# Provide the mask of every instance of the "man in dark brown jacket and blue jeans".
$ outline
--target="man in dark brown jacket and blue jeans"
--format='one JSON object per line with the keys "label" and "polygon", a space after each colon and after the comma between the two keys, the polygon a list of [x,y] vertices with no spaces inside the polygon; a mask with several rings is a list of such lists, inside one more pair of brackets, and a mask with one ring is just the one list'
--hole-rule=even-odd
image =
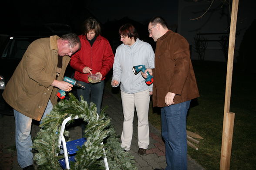
{"label": "man in dark brown jacket and blue jeans", "polygon": [[[161,107],[162,137],[165,140],[165,170],[187,169],[186,116],[190,101],[199,97],[187,40],[167,28],[161,17],[148,24],[156,42],[153,105]],[[141,73],[144,78],[146,75]],[[159,170],[159,169],[155,169]]]}

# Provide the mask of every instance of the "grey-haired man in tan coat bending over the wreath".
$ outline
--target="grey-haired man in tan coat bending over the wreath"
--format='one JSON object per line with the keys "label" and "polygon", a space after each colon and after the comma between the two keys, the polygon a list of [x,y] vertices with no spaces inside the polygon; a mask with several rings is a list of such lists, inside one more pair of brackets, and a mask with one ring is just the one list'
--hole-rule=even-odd
{"label": "grey-haired man in tan coat bending over the wreath", "polygon": [[40,121],[57,103],[57,90],[70,91],[73,85],[64,82],[70,56],[81,47],[78,36],[68,33],[61,37],[37,39],[28,46],[3,92],[13,108],[18,163],[23,170],[34,170],[32,119]]}

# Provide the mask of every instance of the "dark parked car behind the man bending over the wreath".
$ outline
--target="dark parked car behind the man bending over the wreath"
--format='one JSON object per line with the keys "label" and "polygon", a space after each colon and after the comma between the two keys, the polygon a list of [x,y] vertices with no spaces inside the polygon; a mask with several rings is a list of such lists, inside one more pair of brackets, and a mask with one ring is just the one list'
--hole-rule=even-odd
{"label": "dark parked car behind the man bending over the wreath", "polygon": [[[46,26],[50,28],[51,24]],[[61,28],[59,24],[54,24],[54,26]],[[0,36],[0,114],[13,114],[13,109],[4,101],[2,93],[30,43],[39,38],[49,37],[51,35],[61,36],[65,33],[70,33],[70,27],[67,28],[68,29],[60,29],[60,31],[56,28],[51,29],[48,32],[44,31],[44,34],[36,33],[37,36],[31,36],[33,33],[27,36],[27,32],[25,35],[23,35],[23,33],[14,33],[14,36],[5,35],[4,40]],[[71,76],[73,72],[73,69],[68,66],[67,75]]]}

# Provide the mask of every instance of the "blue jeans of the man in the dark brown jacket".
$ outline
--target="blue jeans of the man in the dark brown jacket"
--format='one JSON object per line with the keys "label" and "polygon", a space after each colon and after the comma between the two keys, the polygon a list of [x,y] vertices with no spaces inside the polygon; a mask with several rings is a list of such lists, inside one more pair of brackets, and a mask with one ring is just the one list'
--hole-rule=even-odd
{"label": "blue jeans of the man in the dark brown jacket", "polygon": [[162,137],[165,140],[165,170],[187,170],[186,118],[190,100],[161,108]]}

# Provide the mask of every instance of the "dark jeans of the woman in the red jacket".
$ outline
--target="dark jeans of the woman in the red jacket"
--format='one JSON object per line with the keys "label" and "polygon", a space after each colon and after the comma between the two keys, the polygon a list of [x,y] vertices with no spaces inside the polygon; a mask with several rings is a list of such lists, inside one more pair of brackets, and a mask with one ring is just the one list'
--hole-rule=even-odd
{"label": "dark jeans of the woman in the red jacket", "polygon": [[[97,113],[100,114],[101,112],[101,101],[102,95],[104,90],[104,80],[98,83],[86,83],[86,82],[79,82],[85,88],[77,88],[77,96],[79,100],[81,100],[81,96],[83,96],[84,100],[87,101],[88,105],[90,106],[90,102],[94,102],[97,107]],[[90,98],[91,94],[91,98]]]}

